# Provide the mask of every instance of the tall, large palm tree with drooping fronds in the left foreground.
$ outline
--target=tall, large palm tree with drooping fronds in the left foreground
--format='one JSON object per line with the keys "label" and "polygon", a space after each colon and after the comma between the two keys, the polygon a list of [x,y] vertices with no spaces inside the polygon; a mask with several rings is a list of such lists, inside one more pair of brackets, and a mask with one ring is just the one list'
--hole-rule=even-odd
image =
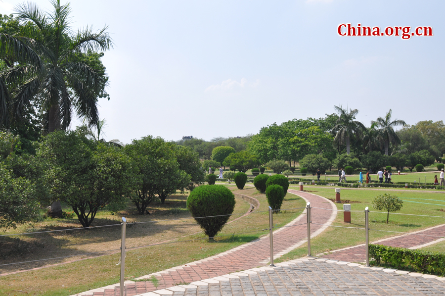
{"label": "tall, large palm tree with drooping fronds in the left foreground", "polygon": [[45,13],[30,2],[15,7],[20,32],[0,34],[0,56],[16,62],[0,73],[0,124],[23,118],[36,101],[49,132],[70,126],[73,108],[89,125],[99,119],[97,100],[107,97],[108,84],[100,51],[112,48],[106,27],[70,29],[69,3],[51,0]]}

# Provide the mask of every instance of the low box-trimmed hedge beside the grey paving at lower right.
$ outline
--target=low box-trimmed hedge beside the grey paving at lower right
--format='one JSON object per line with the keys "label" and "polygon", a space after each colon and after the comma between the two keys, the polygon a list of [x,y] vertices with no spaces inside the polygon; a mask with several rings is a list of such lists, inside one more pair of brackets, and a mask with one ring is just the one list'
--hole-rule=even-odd
{"label": "low box-trimmed hedge beside the grey paving at lower right", "polygon": [[369,256],[379,266],[445,276],[445,253],[369,245]]}

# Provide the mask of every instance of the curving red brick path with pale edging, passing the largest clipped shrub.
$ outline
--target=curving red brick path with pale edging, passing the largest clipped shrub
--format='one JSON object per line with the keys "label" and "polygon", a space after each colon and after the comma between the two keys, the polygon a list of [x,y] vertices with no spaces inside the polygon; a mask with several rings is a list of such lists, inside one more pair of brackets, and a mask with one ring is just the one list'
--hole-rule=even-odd
{"label": "curving red brick path with pale edging, passing the largest clipped shrub", "polygon": [[[319,224],[328,225],[332,223],[337,214],[336,206],[324,197],[319,197],[310,193],[297,190],[289,190],[288,193],[296,194],[311,202],[311,206],[320,208],[330,208],[333,211],[326,214],[326,211],[312,210],[312,221]],[[287,224],[295,227],[281,228],[273,232],[274,258],[279,257],[290,250],[299,247],[307,242],[306,212],[297,219]],[[311,237],[321,233],[327,226],[312,225]],[[149,279],[152,276],[158,280],[158,287],[154,287],[152,281],[126,282],[126,295],[133,296],[143,294],[158,289],[172,287],[178,283],[191,283],[233,273],[237,270],[246,270],[257,266],[265,265],[270,260],[269,238],[265,236],[251,243],[233,248],[204,260],[192,262],[183,266],[178,266],[158,273],[141,277]],[[77,294],[79,295],[79,294]],[[94,296],[118,296],[119,284],[90,290],[80,295]]]}

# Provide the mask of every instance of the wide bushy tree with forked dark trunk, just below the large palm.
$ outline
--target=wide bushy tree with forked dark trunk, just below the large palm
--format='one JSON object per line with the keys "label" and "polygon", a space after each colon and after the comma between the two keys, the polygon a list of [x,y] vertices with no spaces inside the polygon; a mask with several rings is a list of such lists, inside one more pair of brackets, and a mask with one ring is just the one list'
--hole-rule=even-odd
{"label": "wide bushy tree with forked dark trunk, just below the large palm", "polygon": [[107,204],[125,203],[133,179],[122,149],[89,140],[78,132],[54,132],[37,149],[45,161],[45,185],[52,200],[72,207],[83,227]]}

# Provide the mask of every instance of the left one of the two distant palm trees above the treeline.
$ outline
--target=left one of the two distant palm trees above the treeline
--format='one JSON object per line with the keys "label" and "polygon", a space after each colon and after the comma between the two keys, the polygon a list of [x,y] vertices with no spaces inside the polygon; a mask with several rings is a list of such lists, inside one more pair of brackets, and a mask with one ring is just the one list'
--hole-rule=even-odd
{"label": "left one of the two distant palm trees above the treeline", "polygon": [[336,125],[332,129],[335,133],[334,141],[337,141],[340,145],[346,143],[346,153],[349,154],[351,152],[351,136],[361,135],[362,131],[366,128],[361,122],[354,120],[358,113],[357,109],[349,109],[349,113],[347,108],[342,108],[342,105],[339,107],[334,106],[334,109],[339,114]]}

